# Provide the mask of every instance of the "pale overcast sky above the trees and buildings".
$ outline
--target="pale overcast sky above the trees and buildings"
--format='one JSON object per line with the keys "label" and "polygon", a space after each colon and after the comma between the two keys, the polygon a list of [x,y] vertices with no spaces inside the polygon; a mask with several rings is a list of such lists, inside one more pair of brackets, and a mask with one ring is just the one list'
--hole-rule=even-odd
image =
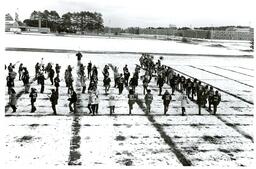
{"label": "pale overcast sky above the trees and buildings", "polygon": [[91,11],[103,15],[112,27],[220,26],[254,24],[254,0],[6,0],[5,13],[20,20],[33,10]]}

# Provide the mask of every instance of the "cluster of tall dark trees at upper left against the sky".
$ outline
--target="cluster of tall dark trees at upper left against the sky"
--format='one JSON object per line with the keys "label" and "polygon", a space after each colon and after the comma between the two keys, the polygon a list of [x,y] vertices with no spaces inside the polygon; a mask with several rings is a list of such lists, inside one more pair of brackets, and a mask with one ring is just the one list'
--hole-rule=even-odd
{"label": "cluster of tall dark trees at upper left against the sky", "polygon": [[52,32],[84,33],[104,30],[102,15],[97,12],[67,12],[60,17],[56,11],[33,11],[30,19],[25,19],[23,23],[27,26],[38,27],[39,20],[41,20],[42,27],[48,27]]}

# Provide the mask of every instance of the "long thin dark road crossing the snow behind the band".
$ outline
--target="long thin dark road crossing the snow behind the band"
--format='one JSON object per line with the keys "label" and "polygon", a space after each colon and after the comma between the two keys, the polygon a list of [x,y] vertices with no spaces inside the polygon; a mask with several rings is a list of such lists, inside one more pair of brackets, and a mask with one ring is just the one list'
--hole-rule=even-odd
{"label": "long thin dark road crossing the snow behind the band", "polygon": [[[6,51],[18,51],[18,52],[51,52],[51,53],[75,53],[77,50],[69,49],[46,49],[46,48],[17,48],[6,47]],[[219,54],[189,54],[189,53],[161,53],[161,52],[128,52],[128,51],[101,51],[101,50],[79,50],[82,53],[92,54],[142,54],[148,53],[152,55],[165,55],[165,56],[208,56],[208,57],[241,57],[241,58],[253,58],[253,55],[219,55]]]}

